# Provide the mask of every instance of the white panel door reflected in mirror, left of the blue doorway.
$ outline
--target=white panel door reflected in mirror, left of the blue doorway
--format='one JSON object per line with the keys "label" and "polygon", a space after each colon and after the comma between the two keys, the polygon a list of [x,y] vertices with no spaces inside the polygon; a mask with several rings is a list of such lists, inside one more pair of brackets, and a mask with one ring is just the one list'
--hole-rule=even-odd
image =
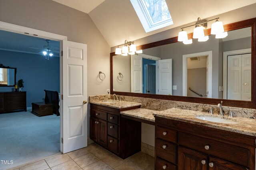
{"label": "white panel door reflected in mirror, left of the blue doorway", "polygon": [[142,57],[131,55],[131,91],[142,93]]}

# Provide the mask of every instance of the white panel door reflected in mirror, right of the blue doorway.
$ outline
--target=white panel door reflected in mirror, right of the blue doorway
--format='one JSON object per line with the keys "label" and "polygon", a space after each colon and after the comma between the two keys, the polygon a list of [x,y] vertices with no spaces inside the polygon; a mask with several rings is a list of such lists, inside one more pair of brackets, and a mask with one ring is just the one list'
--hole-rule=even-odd
{"label": "white panel door reflected in mirror, right of the blue doorway", "polygon": [[172,95],[172,59],[158,60],[158,94]]}

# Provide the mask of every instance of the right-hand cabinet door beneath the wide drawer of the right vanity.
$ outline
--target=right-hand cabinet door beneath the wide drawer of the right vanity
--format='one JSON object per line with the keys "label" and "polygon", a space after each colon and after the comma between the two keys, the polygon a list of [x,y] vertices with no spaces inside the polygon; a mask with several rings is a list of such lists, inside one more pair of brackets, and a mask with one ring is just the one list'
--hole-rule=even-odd
{"label": "right-hand cabinet door beneath the wide drawer of the right vanity", "polygon": [[[213,167],[210,167],[213,166]],[[226,162],[224,160],[210,157],[209,159],[209,170],[248,170],[245,167]]]}

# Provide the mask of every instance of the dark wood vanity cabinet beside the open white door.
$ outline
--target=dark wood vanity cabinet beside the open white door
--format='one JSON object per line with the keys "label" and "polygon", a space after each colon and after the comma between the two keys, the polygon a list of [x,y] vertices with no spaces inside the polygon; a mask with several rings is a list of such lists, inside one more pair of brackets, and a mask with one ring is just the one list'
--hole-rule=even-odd
{"label": "dark wood vanity cabinet beside the open white door", "polygon": [[90,139],[122,159],[140,151],[141,122],[125,119],[120,111],[140,106],[116,109],[90,104]]}

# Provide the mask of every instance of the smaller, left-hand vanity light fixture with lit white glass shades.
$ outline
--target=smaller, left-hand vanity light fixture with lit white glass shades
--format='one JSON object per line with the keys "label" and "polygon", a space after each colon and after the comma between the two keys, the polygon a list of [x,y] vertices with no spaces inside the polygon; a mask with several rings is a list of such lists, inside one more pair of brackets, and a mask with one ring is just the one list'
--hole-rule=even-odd
{"label": "smaller, left-hand vanity light fixture with lit white glass shades", "polygon": [[[123,46],[124,45],[124,46]],[[120,48],[120,46],[122,47],[122,50]],[[127,56],[128,54],[130,55],[134,55],[136,53],[142,53],[142,50],[138,50],[136,49],[136,45],[134,44],[134,41],[124,41],[124,44],[118,45],[116,48],[116,55],[123,55],[123,56]]]}

